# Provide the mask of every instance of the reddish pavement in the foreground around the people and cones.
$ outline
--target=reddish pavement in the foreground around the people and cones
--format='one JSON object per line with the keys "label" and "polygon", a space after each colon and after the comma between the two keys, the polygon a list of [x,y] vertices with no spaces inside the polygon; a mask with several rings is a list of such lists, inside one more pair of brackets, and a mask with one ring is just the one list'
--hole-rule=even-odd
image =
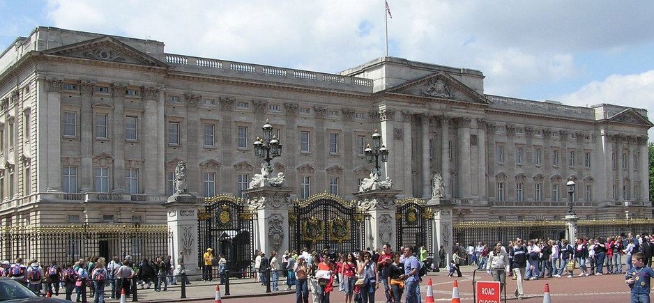
{"label": "reddish pavement in the foreground around the people and cones", "polygon": [[[448,278],[447,272],[429,272],[423,277],[423,283],[420,283],[420,290],[423,293],[423,302],[426,297],[427,283],[432,282],[434,301],[450,302],[452,299],[453,282],[457,280],[459,286],[459,295],[461,302],[473,302],[473,278],[475,281],[492,281],[485,271],[475,271],[475,267],[462,266],[463,277]],[[579,270],[577,270],[577,274]],[[282,278],[283,279],[283,278]],[[549,287],[552,302],[629,302],[629,288],[625,286],[623,274],[604,274],[602,276],[573,277],[572,279],[563,277],[539,279],[537,281],[524,281],[525,298],[522,302],[542,302],[545,284]],[[150,289],[137,290],[138,302],[210,302],[215,299],[216,283],[213,282],[192,281],[191,285],[186,288],[186,298],[181,298],[181,286],[169,286],[165,292],[155,292],[153,287]],[[281,291],[266,293],[266,286],[254,282],[254,279],[230,279],[229,295],[226,295],[225,286],[220,285],[220,295],[222,302],[230,302],[230,299],[236,298],[254,298],[254,297],[271,297],[270,302],[294,302],[295,290],[284,290],[287,286],[285,281],[280,281]],[[108,287],[107,287],[108,288]],[[107,289],[105,288],[105,289]],[[293,287],[295,289],[295,287]],[[513,291],[516,289],[516,283],[510,277],[507,277],[506,298],[510,301],[516,301]],[[63,299],[60,294],[59,298]],[[292,298],[292,299],[291,299]],[[252,299],[255,300],[255,299]],[[377,290],[377,302],[383,302],[381,288]],[[119,302],[119,299],[109,299],[105,297],[106,302]],[[249,302],[250,300],[235,300]],[[332,295],[331,302],[342,302],[341,295],[336,291]],[[93,302],[93,298],[89,298]],[[132,297],[127,298],[127,302],[132,302]],[[521,302],[521,303],[522,303]]]}

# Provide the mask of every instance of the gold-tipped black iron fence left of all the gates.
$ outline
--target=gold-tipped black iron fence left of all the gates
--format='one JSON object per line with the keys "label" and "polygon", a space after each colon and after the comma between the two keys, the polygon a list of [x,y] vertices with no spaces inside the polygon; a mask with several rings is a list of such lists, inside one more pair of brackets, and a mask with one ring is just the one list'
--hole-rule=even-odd
{"label": "gold-tipped black iron fence left of all the gates", "polygon": [[41,263],[71,263],[80,258],[112,256],[142,258],[166,256],[172,233],[165,224],[0,227],[0,258]]}

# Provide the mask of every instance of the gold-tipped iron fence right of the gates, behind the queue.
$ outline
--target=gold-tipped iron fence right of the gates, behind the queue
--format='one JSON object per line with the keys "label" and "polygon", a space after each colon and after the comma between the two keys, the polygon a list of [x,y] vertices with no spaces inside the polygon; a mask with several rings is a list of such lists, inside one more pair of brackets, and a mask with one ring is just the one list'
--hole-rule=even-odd
{"label": "gold-tipped iron fence right of the gates, behind the queue", "polygon": [[[453,224],[454,240],[460,244],[508,242],[516,237],[524,239],[565,238],[565,220],[459,222]],[[654,233],[654,219],[579,220],[577,235],[608,237],[634,233]]]}

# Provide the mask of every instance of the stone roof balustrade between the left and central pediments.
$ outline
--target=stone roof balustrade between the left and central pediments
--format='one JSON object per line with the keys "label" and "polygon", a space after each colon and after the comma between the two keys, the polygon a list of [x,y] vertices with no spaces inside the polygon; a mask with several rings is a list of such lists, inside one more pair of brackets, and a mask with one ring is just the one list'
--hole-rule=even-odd
{"label": "stone roof balustrade between the left and central pediments", "polygon": [[243,72],[245,75],[261,75],[266,77],[277,77],[278,79],[302,79],[324,83],[326,85],[349,84],[351,86],[363,86],[372,90],[372,79],[360,77],[345,77],[322,72],[310,72],[307,70],[294,70],[290,68],[277,68],[267,65],[241,63],[225,60],[197,58],[178,54],[166,54],[166,63],[179,65],[181,67],[200,67],[207,70],[220,70],[224,72]]}

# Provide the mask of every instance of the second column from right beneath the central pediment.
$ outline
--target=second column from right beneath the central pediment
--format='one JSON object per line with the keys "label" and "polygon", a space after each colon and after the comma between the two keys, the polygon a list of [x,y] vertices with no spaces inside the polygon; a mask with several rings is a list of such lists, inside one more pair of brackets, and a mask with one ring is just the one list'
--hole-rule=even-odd
{"label": "second column from right beneath the central pediment", "polygon": [[457,119],[457,183],[459,188],[459,196],[462,198],[470,198],[470,118]]}

